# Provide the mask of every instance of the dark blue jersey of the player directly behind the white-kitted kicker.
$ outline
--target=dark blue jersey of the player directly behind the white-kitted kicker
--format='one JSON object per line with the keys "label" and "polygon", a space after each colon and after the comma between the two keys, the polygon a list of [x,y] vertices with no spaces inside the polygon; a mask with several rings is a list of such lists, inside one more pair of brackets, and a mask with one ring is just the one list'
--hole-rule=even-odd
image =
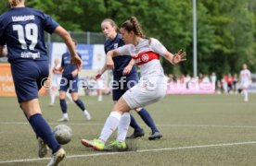
{"label": "dark blue jersey of the player directly behind the white-kitted kicker", "polygon": [[[108,53],[110,50],[114,50],[118,47],[121,47],[125,43],[122,41],[122,35],[120,33],[117,33],[117,36],[113,41],[110,41],[109,39],[105,41],[104,48],[105,48],[105,53]],[[122,55],[122,56],[116,56],[113,57],[114,61],[114,70],[113,73],[114,75],[122,75],[122,70],[126,65],[128,65],[131,61],[132,57],[130,55]],[[130,73],[136,73],[135,66],[133,66],[132,70]]]}

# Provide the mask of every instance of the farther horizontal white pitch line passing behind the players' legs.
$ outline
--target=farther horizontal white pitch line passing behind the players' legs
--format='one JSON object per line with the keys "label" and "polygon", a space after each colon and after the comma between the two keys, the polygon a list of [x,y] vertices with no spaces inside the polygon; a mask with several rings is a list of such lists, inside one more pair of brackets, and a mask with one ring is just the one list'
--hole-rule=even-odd
{"label": "farther horizontal white pitch line passing behind the players' legs", "polygon": [[[48,123],[49,125],[58,125],[59,123]],[[29,125],[25,122],[0,122],[0,125]],[[92,123],[67,123],[66,125],[104,125]],[[171,126],[171,127],[219,127],[219,128],[256,128],[256,125],[179,125],[179,124],[157,124],[158,126]]]}

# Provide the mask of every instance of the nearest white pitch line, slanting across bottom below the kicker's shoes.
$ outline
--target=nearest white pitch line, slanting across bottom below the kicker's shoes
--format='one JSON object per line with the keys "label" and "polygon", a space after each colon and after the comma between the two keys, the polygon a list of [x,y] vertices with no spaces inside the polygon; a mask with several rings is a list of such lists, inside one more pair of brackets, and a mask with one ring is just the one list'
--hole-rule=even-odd
{"label": "nearest white pitch line, slanting across bottom below the kicker's shoes", "polygon": [[[101,153],[85,154],[85,155],[70,155],[70,156],[67,156],[67,158],[68,159],[70,159],[70,158],[88,158],[88,157],[120,155],[120,154],[127,154],[127,153],[136,153],[136,152],[137,153],[145,153],[145,152],[153,152],[153,151],[167,151],[167,150],[179,150],[179,149],[191,149],[191,148],[231,147],[231,146],[250,145],[250,144],[256,144],[256,141],[187,146],[187,147],[176,147],[176,148],[151,148],[151,149],[141,149],[141,150],[136,150],[136,151],[125,151],[125,152],[101,152]],[[37,160],[50,160],[50,158],[25,159],[25,160],[0,160],[0,164],[15,163],[15,162],[31,162],[31,161],[37,161]]]}

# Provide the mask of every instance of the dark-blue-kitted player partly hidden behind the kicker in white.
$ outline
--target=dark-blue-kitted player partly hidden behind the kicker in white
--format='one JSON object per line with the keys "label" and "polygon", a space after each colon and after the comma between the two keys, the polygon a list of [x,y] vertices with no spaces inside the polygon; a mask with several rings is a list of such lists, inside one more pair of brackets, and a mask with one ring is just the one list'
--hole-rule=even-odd
{"label": "dark-blue-kitted player partly hidden behind the kicker in white", "polygon": [[[101,23],[101,29],[104,35],[108,38],[105,41],[105,53],[114,50],[124,45],[122,41],[122,35],[118,32],[118,26],[112,19],[104,19]],[[138,83],[138,73],[136,71],[134,60],[129,55],[122,55],[113,57],[114,69],[113,69],[113,101],[118,101],[124,92]],[[106,71],[106,65],[102,68],[97,77],[101,76]],[[145,108],[135,109],[136,113],[140,115],[143,121],[151,128],[152,134],[148,137],[149,140],[158,139],[161,137],[160,131],[154,123],[151,115]],[[138,136],[144,136],[144,130],[136,123],[134,116],[131,114],[130,126],[134,128],[134,133],[127,138],[135,138]]]}

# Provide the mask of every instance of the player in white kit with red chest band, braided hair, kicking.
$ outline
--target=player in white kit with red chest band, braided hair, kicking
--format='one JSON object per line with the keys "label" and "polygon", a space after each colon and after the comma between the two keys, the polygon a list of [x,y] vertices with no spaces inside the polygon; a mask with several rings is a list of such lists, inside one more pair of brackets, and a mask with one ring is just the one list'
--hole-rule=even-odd
{"label": "player in white kit with red chest band, braided hair, kicking", "polygon": [[[87,148],[94,148],[95,150],[127,149],[125,136],[130,124],[130,110],[160,101],[166,94],[167,83],[160,65],[160,56],[163,56],[173,65],[186,60],[186,53],[182,51],[175,54],[170,53],[160,41],[145,38],[135,17],[122,23],[121,33],[122,40],[126,45],[109,51],[106,65],[109,69],[113,68],[113,56],[131,55],[136,65],[140,65],[141,79],[115,103],[100,136],[94,140],[81,140],[83,146]],[[118,125],[118,140],[112,141],[105,147],[109,136],[117,129]]]}

